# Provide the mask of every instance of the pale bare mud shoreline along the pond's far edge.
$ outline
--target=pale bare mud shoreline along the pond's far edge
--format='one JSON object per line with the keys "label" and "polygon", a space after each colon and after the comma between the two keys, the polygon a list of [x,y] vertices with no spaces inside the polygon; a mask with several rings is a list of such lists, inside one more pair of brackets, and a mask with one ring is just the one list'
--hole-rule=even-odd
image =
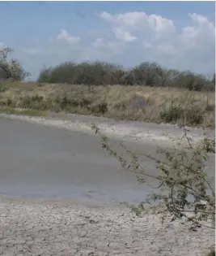
{"label": "pale bare mud shoreline along the pond's far edge", "polygon": [[[95,117],[87,115],[75,114],[54,114],[51,113],[48,117],[33,117],[28,115],[7,115],[0,114],[0,118],[18,119],[27,121],[33,124],[42,124],[55,128],[64,128],[76,132],[87,132],[94,135],[91,130],[91,124],[95,124],[104,135],[115,137],[116,139],[126,139],[143,143],[144,141],[156,143],[158,145],[187,145],[183,129],[174,124],[152,124],[138,121],[116,121],[104,117]],[[214,137],[214,129],[188,128],[188,136],[192,138],[192,143],[196,144],[205,137]]]}

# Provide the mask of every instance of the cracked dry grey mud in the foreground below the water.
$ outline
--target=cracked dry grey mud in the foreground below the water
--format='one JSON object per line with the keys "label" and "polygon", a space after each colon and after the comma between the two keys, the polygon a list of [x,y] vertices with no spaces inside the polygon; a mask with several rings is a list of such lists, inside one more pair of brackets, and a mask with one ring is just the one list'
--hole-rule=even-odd
{"label": "cracked dry grey mud in the foreground below the water", "polygon": [[213,229],[116,206],[2,199],[0,210],[0,255],[203,256],[214,244]]}

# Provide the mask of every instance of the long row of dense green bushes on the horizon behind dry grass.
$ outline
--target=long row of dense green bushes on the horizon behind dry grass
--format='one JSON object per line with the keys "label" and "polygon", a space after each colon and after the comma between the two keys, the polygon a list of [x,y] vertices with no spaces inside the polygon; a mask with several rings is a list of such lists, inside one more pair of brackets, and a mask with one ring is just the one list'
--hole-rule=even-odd
{"label": "long row of dense green bushes on the horizon behind dry grass", "polygon": [[176,87],[189,90],[214,90],[214,77],[178,72],[161,67],[157,63],[141,63],[132,69],[110,63],[61,63],[57,67],[44,68],[40,83],[67,83],[70,85],[142,85],[150,87]]}

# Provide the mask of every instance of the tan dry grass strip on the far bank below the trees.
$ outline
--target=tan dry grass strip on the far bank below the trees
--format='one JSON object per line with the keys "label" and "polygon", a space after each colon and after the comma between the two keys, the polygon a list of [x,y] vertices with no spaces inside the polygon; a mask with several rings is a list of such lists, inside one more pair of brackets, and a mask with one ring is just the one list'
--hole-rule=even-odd
{"label": "tan dry grass strip on the far bank below the trees", "polygon": [[[214,93],[193,92],[186,89],[152,88],[143,86],[87,86],[87,85],[50,85],[36,83],[6,83],[0,92],[0,103],[8,102],[10,107],[23,107],[23,99],[28,96],[42,96],[42,102],[30,108],[45,111],[65,111],[83,115],[104,115],[116,119],[132,119],[146,122],[163,122],[163,104],[176,99],[179,106],[188,104],[195,112],[207,111],[198,126],[214,127]],[[53,100],[70,99],[66,107],[57,107]],[[86,105],[79,103],[83,101]],[[74,103],[75,101],[75,103]],[[6,103],[7,105],[7,103]],[[62,105],[62,104],[61,104]],[[8,105],[7,105],[8,106]],[[28,106],[29,108],[29,106]],[[169,121],[169,122],[172,122]],[[173,120],[178,122],[178,120]],[[196,123],[196,122],[195,122]]]}

